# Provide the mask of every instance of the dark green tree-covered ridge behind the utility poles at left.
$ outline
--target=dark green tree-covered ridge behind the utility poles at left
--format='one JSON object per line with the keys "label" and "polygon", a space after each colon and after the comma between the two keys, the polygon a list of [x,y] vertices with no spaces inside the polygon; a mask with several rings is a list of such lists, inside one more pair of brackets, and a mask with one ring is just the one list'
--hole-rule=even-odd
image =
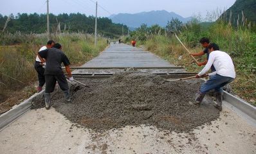
{"label": "dark green tree-covered ridge behind the utility poles at left", "polygon": [[[3,30],[7,16],[0,14],[0,30]],[[46,14],[27,14],[18,13],[17,16],[12,15],[6,31],[15,33],[44,33],[46,31]],[[122,24],[114,24],[107,17],[98,18],[98,33],[106,37],[119,37],[122,35]],[[127,26],[123,26],[124,33],[128,32]],[[50,29],[51,33],[56,31],[94,33],[95,17],[86,16],[81,13],[62,13],[59,15],[50,14]]]}

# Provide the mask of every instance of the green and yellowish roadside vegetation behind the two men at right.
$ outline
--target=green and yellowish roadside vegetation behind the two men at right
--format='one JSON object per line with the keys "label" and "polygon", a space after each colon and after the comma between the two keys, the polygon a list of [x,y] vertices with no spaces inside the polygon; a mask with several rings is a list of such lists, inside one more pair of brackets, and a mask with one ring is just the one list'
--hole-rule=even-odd
{"label": "green and yellowish roadside vegetation behind the two men at right", "polygon": [[[131,33],[131,36],[123,39],[126,41],[136,39],[137,46],[143,45],[147,50],[170,63],[185,66],[187,71],[197,73],[203,68],[194,63],[178,40],[169,33],[168,27],[167,29],[156,27],[147,28],[142,25],[137,31]],[[211,42],[219,44],[222,51],[231,55],[237,72],[236,80],[231,83],[232,90],[239,97],[256,106],[255,31],[250,31],[246,27],[233,28],[221,21],[214,22],[207,28],[192,21],[183,25],[179,31],[179,38],[192,53],[201,51],[199,39],[208,37]],[[203,58],[206,57],[197,58],[203,62]]]}

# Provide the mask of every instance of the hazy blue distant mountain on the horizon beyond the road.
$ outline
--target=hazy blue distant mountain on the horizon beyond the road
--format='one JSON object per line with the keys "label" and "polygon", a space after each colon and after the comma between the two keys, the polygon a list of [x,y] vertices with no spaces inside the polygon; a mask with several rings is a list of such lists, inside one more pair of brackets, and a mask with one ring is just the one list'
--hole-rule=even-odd
{"label": "hazy blue distant mountain on the horizon beyond the road", "polygon": [[154,24],[159,24],[165,27],[167,22],[172,20],[172,18],[178,18],[179,21],[187,22],[192,19],[192,17],[184,18],[174,12],[167,12],[165,10],[161,11],[151,11],[151,12],[140,12],[140,13],[119,13],[117,15],[111,15],[109,19],[112,19],[114,23],[125,24],[129,27],[138,28],[142,24],[147,24],[147,26],[152,26]]}

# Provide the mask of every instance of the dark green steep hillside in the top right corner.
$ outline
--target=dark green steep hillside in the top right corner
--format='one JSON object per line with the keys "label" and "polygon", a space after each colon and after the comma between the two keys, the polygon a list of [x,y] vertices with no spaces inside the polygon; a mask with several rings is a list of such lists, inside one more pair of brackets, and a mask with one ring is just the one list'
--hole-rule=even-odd
{"label": "dark green steep hillside in the top right corner", "polygon": [[[232,17],[230,18],[230,12]],[[233,24],[237,23],[238,15],[239,21],[242,21],[242,12],[244,13],[245,19],[248,21],[256,21],[256,0],[237,0],[235,3],[221,15],[222,19],[226,19]]]}

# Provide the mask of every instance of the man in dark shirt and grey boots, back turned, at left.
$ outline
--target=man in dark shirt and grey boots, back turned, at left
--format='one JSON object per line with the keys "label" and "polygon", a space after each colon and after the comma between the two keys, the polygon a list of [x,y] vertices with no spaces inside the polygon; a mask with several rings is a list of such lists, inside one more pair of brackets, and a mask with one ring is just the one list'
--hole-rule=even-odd
{"label": "man in dark shirt and grey boots, back turned, at left", "polygon": [[47,110],[51,107],[50,93],[55,89],[56,81],[58,81],[60,89],[64,92],[65,99],[67,101],[71,101],[68,81],[66,80],[61,68],[62,63],[66,67],[69,80],[73,81],[74,79],[69,68],[70,63],[68,57],[61,51],[61,49],[61,45],[57,43],[51,49],[46,49],[37,53],[41,62],[44,62],[43,58],[47,61],[47,65],[44,71],[44,78],[46,80],[44,101]]}

